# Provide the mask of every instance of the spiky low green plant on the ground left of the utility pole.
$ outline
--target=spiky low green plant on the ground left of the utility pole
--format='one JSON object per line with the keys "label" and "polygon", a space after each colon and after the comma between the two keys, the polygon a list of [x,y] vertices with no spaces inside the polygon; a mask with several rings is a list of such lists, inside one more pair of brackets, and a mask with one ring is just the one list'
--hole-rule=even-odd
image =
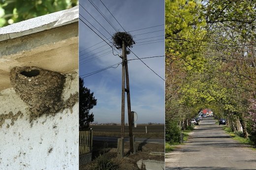
{"label": "spiky low green plant on the ground left of the utility pole", "polygon": [[97,157],[95,170],[118,170],[118,166],[115,165],[106,154],[102,154]]}

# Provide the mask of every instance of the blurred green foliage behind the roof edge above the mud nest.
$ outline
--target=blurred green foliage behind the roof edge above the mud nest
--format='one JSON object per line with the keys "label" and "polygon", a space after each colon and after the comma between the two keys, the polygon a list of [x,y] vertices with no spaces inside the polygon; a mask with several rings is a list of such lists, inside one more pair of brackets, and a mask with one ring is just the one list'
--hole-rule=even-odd
{"label": "blurred green foliage behind the roof edge above the mud nest", "polygon": [[0,27],[76,5],[78,0],[0,0]]}

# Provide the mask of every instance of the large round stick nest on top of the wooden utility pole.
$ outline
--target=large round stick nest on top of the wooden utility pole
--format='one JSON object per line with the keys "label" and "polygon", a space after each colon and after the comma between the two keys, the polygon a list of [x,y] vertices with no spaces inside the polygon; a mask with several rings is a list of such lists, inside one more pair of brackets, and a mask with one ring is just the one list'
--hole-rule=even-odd
{"label": "large round stick nest on top of the wooden utility pole", "polygon": [[125,40],[125,46],[126,47],[132,47],[133,44],[135,44],[135,41],[133,41],[131,34],[127,32],[116,32],[112,39],[114,41],[114,46],[117,49],[122,49],[123,47],[123,40]]}

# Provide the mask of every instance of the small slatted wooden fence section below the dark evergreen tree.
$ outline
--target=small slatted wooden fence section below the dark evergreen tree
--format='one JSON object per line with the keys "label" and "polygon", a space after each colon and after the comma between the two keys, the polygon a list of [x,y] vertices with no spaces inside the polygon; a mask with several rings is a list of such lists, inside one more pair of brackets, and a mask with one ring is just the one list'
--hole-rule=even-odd
{"label": "small slatted wooden fence section below the dark evergreen tree", "polygon": [[79,155],[92,153],[93,128],[79,130]]}

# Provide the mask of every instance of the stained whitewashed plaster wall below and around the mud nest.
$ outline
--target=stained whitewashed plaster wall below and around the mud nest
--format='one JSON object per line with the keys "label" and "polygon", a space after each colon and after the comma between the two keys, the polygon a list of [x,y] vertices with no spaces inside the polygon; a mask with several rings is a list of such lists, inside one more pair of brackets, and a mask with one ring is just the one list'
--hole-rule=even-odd
{"label": "stained whitewashed plaster wall below and around the mud nest", "polygon": [[64,76],[63,110],[33,120],[14,88],[0,91],[0,170],[78,170],[78,73]]}

